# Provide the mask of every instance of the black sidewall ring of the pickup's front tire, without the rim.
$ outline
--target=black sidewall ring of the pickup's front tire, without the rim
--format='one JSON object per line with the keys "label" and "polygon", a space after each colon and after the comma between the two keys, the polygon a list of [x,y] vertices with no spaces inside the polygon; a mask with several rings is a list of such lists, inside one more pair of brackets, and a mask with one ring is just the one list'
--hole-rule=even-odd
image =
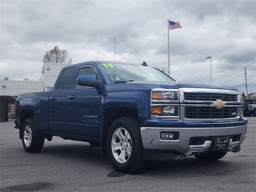
{"label": "black sidewall ring of the pickup's front tire, without the rim", "polygon": [[[112,153],[112,146],[111,146],[112,136],[113,136],[114,132],[116,131],[116,129],[121,128],[121,127],[125,128],[128,131],[128,133],[130,134],[131,140],[132,140],[132,153],[131,153],[129,160],[125,163],[120,163],[114,158],[114,155]],[[136,159],[136,153],[135,153],[136,149],[135,148],[136,148],[136,143],[135,143],[134,132],[133,132],[132,128],[130,128],[129,126],[127,126],[126,124],[121,123],[121,122],[116,123],[110,127],[110,131],[108,132],[108,138],[107,138],[107,149],[108,149],[108,156],[110,158],[110,161],[112,161],[114,164],[116,164],[116,166],[119,166],[119,167],[129,166],[130,164],[133,163],[134,159]]]}

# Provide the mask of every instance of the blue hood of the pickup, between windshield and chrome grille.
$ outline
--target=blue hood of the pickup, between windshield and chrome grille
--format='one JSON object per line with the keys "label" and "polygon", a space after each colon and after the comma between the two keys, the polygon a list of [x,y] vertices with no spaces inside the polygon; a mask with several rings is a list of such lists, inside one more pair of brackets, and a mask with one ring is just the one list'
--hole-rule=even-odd
{"label": "blue hood of the pickup, between windshield and chrome grille", "polygon": [[127,83],[144,83],[144,84],[157,84],[162,85],[166,89],[178,89],[182,87],[187,88],[210,88],[210,89],[227,89],[227,90],[236,90],[234,87],[228,86],[218,86],[213,84],[200,84],[200,83],[187,83],[187,82],[169,82],[169,81],[134,81],[134,82],[127,82]]}

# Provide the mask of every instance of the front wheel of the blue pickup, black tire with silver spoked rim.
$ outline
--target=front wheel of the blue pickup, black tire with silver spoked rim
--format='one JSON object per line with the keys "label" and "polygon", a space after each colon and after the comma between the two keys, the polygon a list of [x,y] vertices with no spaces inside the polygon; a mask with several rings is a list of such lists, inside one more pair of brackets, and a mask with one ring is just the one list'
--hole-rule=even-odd
{"label": "front wheel of the blue pickup, black tire with silver spoked rim", "polygon": [[[120,137],[119,134],[118,137],[116,135],[117,132],[122,132],[123,137]],[[116,138],[116,140],[114,140],[114,138]],[[120,138],[123,138],[124,141],[122,142]],[[112,147],[112,143],[116,143],[116,148],[119,147],[116,152],[112,151],[112,148],[114,150],[115,147]],[[122,145],[119,146],[120,143]],[[107,152],[112,166],[119,172],[132,173],[144,168],[144,148],[138,119],[122,117],[112,123],[107,136]],[[123,156],[121,154],[123,154]]]}

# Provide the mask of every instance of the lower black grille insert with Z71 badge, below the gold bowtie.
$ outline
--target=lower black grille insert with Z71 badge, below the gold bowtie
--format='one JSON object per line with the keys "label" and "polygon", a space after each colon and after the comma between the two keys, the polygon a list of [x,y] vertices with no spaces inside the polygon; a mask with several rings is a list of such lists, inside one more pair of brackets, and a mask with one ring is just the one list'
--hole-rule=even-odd
{"label": "lower black grille insert with Z71 badge, below the gold bowtie", "polygon": [[225,107],[217,109],[214,107],[185,107],[186,119],[223,119],[236,118],[237,107]]}

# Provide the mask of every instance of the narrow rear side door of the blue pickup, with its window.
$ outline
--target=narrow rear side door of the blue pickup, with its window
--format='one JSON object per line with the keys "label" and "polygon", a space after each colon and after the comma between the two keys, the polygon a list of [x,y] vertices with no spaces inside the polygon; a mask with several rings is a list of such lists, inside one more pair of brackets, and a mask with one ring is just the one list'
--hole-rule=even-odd
{"label": "narrow rear side door of the blue pickup, with its window", "polygon": [[76,67],[66,68],[57,79],[49,98],[49,127],[52,132],[66,132],[67,98]]}

